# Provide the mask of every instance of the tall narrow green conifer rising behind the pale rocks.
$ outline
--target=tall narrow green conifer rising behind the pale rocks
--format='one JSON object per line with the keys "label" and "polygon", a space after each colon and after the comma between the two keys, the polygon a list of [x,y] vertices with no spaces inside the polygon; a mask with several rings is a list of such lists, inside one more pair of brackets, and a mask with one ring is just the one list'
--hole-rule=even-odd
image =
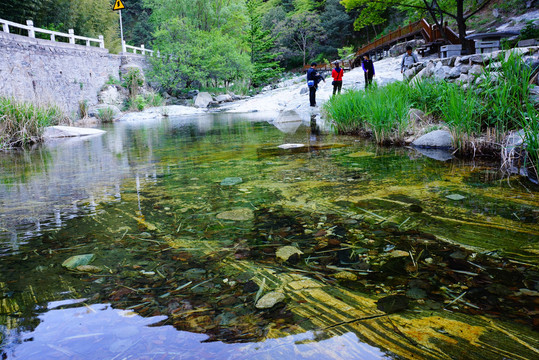
{"label": "tall narrow green conifer rising behind the pale rocks", "polygon": [[271,31],[263,30],[262,16],[257,12],[261,3],[261,0],[247,0],[246,2],[249,16],[247,43],[251,50],[251,64],[253,65],[251,85],[254,87],[266,84],[282,72],[277,61],[280,54],[272,52],[275,41],[271,36]]}

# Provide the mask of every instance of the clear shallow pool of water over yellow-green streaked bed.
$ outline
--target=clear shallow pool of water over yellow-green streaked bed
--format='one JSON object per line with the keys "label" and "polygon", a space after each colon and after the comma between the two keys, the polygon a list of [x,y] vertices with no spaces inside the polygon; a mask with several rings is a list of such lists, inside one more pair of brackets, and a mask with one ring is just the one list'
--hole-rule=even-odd
{"label": "clear shallow pool of water over yellow-green streaked bed", "polygon": [[[496,164],[253,116],[117,123],[3,154],[4,357],[532,358],[537,188],[500,181]],[[276,259],[284,245],[303,252],[298,262]],[[101,272],[62,268],[86,253]],[[255,308],[262,285],[285,301]],[[376,301],[399,294],[408,310],[386,316]],[[54,306],[68,299],[87,306]],[[494,340],[484,314],[529,346]]]}

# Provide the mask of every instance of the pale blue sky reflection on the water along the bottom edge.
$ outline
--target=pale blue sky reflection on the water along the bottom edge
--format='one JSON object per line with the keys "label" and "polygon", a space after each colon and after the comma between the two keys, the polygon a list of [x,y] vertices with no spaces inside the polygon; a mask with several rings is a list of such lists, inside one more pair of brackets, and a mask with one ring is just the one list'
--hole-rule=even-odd
{"label": "pale blue sky reflection on the water along the bottom edge", "polygon": [[[72,301],[73,304],[82,300]],[[308,332],[259,343],[206,342],[207,335],[178,331],[160,324],[164,316],[144,318],[110,304],[61,308],[39,315],[33,331],[6,331],[3,359],[94,360],[94,359],[335,359],[374,360],[384,358],[379,349],[361,343],[353,333],[317,339]]]}

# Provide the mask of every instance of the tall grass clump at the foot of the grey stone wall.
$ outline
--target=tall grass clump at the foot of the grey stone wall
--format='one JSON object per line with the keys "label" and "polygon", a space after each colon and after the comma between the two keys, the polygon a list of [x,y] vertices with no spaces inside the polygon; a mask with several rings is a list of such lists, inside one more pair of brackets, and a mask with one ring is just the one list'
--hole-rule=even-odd
{"label": "tall grass clump at the foot of the grey stone wall", "polygon": [[67,121],[57,106],[39,106],[0,97],[0,149],[39,142],[45,127]]}

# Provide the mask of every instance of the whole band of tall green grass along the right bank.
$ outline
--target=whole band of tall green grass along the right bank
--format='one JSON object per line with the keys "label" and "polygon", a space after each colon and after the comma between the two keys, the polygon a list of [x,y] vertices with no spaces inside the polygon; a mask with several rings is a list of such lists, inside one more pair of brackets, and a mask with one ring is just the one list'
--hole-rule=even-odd
{"label": "whole band of tall green grass along the right bank", "polygon": [[[348,91],[331,98],[324,110],[340,133],[370,132],[378,143],[398,143],[408,129],[411,107],[431,114],[445,123],[453,135],[453,145],[460,153],[476,148],[483,134],[491,143],[480,146],[499,148],[508,131],[525,125],[531,129],[530,139],[537,139],[537,125],[523,123],[522,109],[528,108],[527,119],[537,119],[529,103],[531,69],[521,56],[506,53],[496,59],[497,68],[485,69],[482,82],[463,89],[457,84],[426,79],[407,84],[396,82],[383,88],[374,86],[363,91]],[[532,114],[532,115],[529,115]],[[534,130],[535,129],[535,130]],[[535,131],[535,132],[534,132]],[[535,140],[528,143],[532,148]],[[537,164],[537,153],[531,156]],[[535,159],[535,160],[533,160]]]}

